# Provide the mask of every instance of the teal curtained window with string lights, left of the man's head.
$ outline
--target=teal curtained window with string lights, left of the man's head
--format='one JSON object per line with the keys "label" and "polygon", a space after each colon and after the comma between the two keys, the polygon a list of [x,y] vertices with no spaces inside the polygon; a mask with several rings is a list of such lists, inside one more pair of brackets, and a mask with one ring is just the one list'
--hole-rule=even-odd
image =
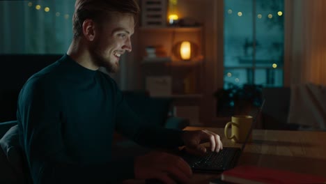
{"label": "teal curtained window with string lights, left of the man's head", "polygon": [[63,54],[75,1],[0,1],[0,54]]}

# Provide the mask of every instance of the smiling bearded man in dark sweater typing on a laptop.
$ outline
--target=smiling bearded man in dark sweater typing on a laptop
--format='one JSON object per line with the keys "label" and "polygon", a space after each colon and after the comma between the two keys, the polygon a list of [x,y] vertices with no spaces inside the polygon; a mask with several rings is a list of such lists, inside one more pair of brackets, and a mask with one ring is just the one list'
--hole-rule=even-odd
{"label": "smiling bearded man in dark sweater typing on a laptop", "polygon": [[114,130],[154,148],[187,146],[205,152],[222,149],[207,130],[181,131],[141,126],[111,77],[121,54],[132,51],[134,0],[77,0],[74,38],[68,52],[33,75],[20,92],[17,120],[20,143],[33,183],[119,183],[157,178],[188,183],[189,165],[176,155],[153,151],[125,160],[111,159]]}

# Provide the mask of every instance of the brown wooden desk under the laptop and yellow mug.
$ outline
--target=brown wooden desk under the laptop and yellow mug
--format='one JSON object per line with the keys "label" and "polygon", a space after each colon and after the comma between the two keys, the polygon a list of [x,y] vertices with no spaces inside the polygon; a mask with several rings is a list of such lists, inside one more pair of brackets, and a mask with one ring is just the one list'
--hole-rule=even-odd
{"label": "brown wooden desk under the laptop and yellow mug", "polygon": [[[224,138],[223,128],[187,127],[185,130],[201,129],[219,134],[224,146],[241,146]],[[238,164],[254,164],[326,177],[326,132],[254,130],[253,141],[244,148]],[[217,176],[195,173],[192,182],[209,183]]]}

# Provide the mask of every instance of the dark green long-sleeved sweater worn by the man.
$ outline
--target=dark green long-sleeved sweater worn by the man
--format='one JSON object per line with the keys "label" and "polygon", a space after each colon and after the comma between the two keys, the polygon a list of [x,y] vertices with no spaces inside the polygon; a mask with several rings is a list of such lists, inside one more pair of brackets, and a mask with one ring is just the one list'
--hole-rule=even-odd
{"label": "dark green long-sleeved sweater worn by the man", "polygon": [[134,158],[111,159],[114,130],[143,146],[181,146],[182,131],[142,127],[111,77],[65,54],[24,84],[20,143],[33,183],[115,183],[134,177]]}

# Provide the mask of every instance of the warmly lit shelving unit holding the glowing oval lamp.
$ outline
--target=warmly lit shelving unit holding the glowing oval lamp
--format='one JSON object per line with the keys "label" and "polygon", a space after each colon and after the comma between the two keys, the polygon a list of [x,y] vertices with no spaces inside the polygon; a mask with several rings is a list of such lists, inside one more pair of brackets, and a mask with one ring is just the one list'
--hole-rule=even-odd
{"label": "warmly lit shelving unit holding the glowing oval lamp", "polygon": [[[202,27],[139,27],[138,33],[142,88],[153,96],[173,98],[176,116],[199,121],[205,64]],[[196,56],[189,61],[173,54],[175,45],[185,40],[196,45]],[[164,49],[162,58],[146,58],[150,46]]]}

